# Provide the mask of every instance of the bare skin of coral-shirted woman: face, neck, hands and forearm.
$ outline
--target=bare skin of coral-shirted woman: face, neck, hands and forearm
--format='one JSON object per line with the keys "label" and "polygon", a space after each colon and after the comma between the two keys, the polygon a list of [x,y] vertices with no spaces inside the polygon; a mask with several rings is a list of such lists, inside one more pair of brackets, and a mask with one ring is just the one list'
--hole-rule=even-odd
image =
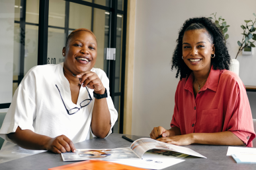
{"label": "bare skin of coral-shirted woman: face, neck, hands and forearm", "polygon": [[[194,73],[194,79],[201,84],[200,88],[204,86],[204,80],[210,74],[210,56],[214,52],[214,44],[210,43],[206,30],[188,30],[185,32],[183,36],[183,60]],[[199,92],[196,80],[193,81],[194,98]],[[230,131],[181,135],[181,130],[178,127],[172,127],[169,130],[163,127],[154,127],[150,137],[179,146],[189,144],[245,145],[242,140]]]}

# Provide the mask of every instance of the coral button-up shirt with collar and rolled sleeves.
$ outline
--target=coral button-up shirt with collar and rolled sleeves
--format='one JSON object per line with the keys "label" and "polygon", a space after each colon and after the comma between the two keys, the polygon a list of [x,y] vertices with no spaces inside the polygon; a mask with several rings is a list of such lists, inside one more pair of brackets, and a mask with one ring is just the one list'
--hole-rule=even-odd
{"label": "coral button-up shirt with collar and rolled sleeves", "polygon": [[255,138],[251,108],[245,86],[237,74],[211,69],[194,98],[194,74],[179,81],[171,127],[181,134],[233,132],[247,146]]}

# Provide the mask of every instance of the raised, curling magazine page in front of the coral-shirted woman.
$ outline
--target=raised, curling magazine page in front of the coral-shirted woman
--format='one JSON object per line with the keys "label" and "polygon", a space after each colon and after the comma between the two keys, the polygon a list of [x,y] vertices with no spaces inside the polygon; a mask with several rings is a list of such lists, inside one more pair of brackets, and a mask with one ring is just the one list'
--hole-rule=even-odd
{"label": "raised, curling magazine page in front of the coral-shirted woman", "polygon": [[193,150],[189,148],[185,148],[183,146],[176,146],[173,144],[167,144],[165,142],[160,142],[158,140],[153,140],[151,138],[141,138],[132,143],[130,148],[139,156],[142,157],[145,152],[151,149],[159,149],[159,150],[171,150],[174,152],[179,152],[182,154],[187,154],[190,156],[196,156],[196,157],[204,157],[201,154],[198,154],[197,152],[194,152]]}

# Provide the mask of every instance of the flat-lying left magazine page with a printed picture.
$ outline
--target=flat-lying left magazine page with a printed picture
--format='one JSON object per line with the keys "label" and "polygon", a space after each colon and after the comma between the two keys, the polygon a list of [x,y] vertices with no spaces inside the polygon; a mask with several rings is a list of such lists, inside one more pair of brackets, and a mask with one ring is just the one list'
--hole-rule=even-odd
{"label": "flat-lying left magazine page with a printed picture", "polygon": [[76,150],[76,152],[62,153],[63,161],[82,161],[89,159],[140,159],[130,148],[116,148],[116,149],[87,149]]}

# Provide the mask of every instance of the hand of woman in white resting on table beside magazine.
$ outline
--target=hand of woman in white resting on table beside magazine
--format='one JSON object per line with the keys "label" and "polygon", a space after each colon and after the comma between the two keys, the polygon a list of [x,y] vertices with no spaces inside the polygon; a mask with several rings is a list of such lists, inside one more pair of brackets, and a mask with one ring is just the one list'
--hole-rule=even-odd
{"label": "hand of woman in white resting on table beside magazine", "polygon": [[50,138],[44,146],[46,150],[54,152],[56,154],[61,154],[64,152],[75,152],[75,146],[73,142],[67,138],[65,135],[57,136],[56,138]]}

